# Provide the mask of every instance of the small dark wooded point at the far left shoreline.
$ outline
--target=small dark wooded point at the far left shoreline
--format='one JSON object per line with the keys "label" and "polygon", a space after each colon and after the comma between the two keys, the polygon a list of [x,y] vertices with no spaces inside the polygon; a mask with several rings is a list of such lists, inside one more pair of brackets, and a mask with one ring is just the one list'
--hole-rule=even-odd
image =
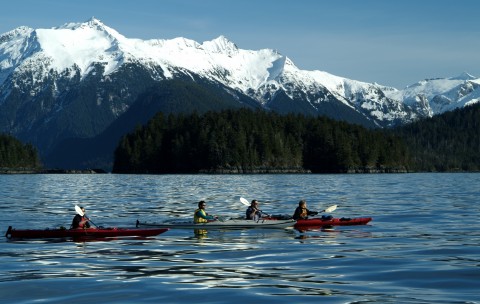
{"label": "small dark wooded point at the far left shoreline", "polygon": [[0,134],[0,170],[35,169],[40,167],[37,150],[16,138]]}

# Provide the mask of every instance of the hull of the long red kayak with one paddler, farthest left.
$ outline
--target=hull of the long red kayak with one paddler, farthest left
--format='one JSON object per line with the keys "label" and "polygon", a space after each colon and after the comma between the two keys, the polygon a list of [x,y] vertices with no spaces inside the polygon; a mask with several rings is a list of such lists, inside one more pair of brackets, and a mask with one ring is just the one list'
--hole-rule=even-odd
{"label": "hull of the long red kayak with one paddler, farthest left", "polygon": [[8,227],[8,239],[43,238],[106,238],[119,236],[155,236],[168,231],[168,228],[77,228],[77,229],[14,229]]}

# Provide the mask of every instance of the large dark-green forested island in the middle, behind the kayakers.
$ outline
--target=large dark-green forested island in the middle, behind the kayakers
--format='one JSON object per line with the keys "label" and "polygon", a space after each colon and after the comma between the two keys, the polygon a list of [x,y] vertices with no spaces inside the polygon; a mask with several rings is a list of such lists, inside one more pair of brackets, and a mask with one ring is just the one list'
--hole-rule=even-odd
{"label": "large dark-green forested island in the middle, behind the kayakers", "polygon": [[380,130],[324,117],[246,109],[158,113],[124,136],[117,173],[405,172],[406,145]]}

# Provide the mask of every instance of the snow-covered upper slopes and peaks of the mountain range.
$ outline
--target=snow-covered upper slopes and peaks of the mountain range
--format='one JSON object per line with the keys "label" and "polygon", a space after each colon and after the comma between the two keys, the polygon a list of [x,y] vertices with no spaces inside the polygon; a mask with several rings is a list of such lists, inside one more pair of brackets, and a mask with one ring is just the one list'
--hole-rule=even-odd
{"label": "snow-covered upper slopes and peaks of the mountain range", "polygon": [[[480,100],[480,79],[466,72],[397,90],[324,71],[301,70],[276,50],[240,49],[223,35],[202,44],[183,37],[131,39],[92,17],[51,29],[19,27],[0,35],[0,89],[5,88],[0,91],[0,106],[1,98],[13,98],[9,95],[12,87],[23,85],[35,99],[44,89],[42,83],[51,81],[54,95],[62,96],[62,83],[81,83],[89,75],[104,83],[114,82],[115,72],[124,73],[122,67],[127,63],[145,71],[142,77],[151,77],[151,81],[203,78],[268,109],[335,112],[335,117],[341,116],[338,109],[342,109],[350,113],[348,116],[352,112],[361,116],[360,122],[365,119],[379,126],[409,122]],[[97,69],[99,66],[102,68]],[[128,97],[113,97],[116,92],[99,90],[99,96],[105,94],[99,103],[109,100],[120,104],[115,98],[133,98],[133,93],[125,92],[138,89],[135,84],[122,83],[121,87],[120,95]],[[115,115],[126,108],[118,106]]]}

